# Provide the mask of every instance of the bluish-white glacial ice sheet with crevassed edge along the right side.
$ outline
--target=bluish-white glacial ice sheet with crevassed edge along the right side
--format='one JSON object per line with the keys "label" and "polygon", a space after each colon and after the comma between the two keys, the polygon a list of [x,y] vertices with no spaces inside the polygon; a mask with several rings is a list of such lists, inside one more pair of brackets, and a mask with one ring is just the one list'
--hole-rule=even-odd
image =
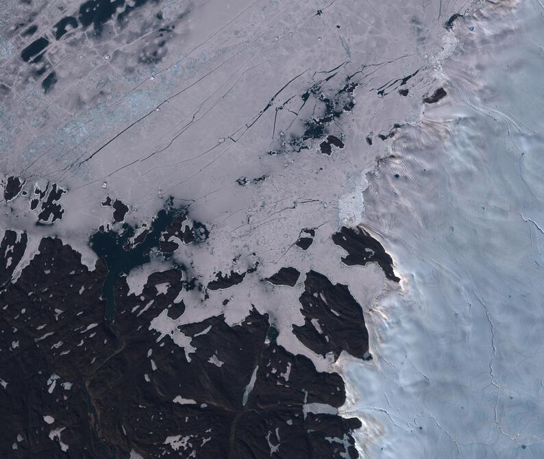
{"label": "bluish-white glacial ice sheet with crevassed edge along the right side", "polygon": [[367,174],[362,221],[403,279],[369,313],[376,366],[343,363],[369,457],[543,457],[543,12],[464,18],[449,97]]}

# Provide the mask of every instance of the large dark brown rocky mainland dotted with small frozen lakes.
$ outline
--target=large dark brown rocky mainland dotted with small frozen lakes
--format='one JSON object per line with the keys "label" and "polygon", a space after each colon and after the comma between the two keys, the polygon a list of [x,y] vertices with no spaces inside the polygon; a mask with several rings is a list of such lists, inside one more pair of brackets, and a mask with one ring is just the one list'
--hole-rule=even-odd
{"label": "large dark brown rocky mainland dotted with small frozen lakes", "polygon": [[[106,270],[99,260],[89,271],[79,253],[45,238],[0,293],[0,416],[10,420],[2,457],[358,456],[358,419],[305,410],[341,406],[341,377],[277,345],[267,314],[162,330],[185,311],[175,302],[183,273],[171,269],[153,273],[138,296],[119,277],[116,320],[108,321]],[[150,323],[164,310],[159,332]]]}

